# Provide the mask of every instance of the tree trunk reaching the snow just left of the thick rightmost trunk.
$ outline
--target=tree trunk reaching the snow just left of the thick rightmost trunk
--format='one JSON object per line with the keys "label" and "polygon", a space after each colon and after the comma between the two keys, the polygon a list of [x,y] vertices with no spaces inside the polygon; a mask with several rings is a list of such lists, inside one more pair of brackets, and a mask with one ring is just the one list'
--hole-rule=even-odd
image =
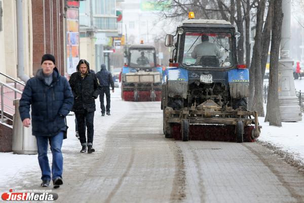
{"label": "tree trunk reaching the snow just left of the thick rightmost trunk", "polygon": [[[255,67],[254,67],[254,97],[252,100],[252,109],[257,111],[258,115],[264,117],[263,108],[263,81],[261,73],[261,40],[262,40],[262,27],[263,27],[263,16],[265,10],[266,0],[261,0],[258,3],[257,15],[256,15],[256,33],[254,38],[254,54],[255,54]],[[251,66],[252,67],[252,66]]]}

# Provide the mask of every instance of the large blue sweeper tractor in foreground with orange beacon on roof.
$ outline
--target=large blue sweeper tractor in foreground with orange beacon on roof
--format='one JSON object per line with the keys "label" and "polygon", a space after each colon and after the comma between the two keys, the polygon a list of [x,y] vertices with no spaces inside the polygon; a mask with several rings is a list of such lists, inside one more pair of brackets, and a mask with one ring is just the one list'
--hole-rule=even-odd
{"label": "large blue sweeper tractor in foreground with orange beacon on roof", "polygon": [[189,19],[167,35],[173,47],[162,85],[163,131],[176,140],[254,142],[256,111],[248,111],[249,71],[238,64],[240,33],[225,20]]}

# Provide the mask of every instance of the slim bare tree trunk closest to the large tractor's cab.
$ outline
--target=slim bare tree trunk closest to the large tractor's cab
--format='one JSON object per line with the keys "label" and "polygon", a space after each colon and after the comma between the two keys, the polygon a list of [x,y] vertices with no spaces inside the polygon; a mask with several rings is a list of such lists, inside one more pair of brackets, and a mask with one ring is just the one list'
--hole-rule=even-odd
{"label": "slim bare tree trunk closest to the large tractor's cab", "polygon": [[238,31],[240,32],[241,36],[239,39],[239,51],[238,51],[238,62],[239,64],[244,64],[244,26],[243,26],[243,14],[242,14],[242,4],[241,0],[236,0],[237,5],[237,26]]}

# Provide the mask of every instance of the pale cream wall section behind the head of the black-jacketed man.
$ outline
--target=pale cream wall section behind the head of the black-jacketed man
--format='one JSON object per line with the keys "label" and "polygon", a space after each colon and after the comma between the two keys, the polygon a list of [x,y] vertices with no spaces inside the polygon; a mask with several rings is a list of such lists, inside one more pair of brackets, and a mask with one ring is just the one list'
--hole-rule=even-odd
{"label": "pale cream wall section behind the head of the black-jacketed man", "polygon": [[95,64],[95,40],[93,38],[80,38],[80,59],[86,59],[90,63],[90,69],[99,71]]}

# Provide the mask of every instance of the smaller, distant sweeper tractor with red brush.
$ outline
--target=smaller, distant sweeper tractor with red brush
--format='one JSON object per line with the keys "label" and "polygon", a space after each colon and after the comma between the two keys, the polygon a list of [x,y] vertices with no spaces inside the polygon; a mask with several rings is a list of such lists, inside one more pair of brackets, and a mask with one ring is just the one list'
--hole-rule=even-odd
{"label": "smaller, distant sweeper tractor with red brush", "polygon": [[126,101],[160,101],[162,67],[157,64],[153,46],[131,45],[127,51],[127,63],[123,66],[122,99]]}

